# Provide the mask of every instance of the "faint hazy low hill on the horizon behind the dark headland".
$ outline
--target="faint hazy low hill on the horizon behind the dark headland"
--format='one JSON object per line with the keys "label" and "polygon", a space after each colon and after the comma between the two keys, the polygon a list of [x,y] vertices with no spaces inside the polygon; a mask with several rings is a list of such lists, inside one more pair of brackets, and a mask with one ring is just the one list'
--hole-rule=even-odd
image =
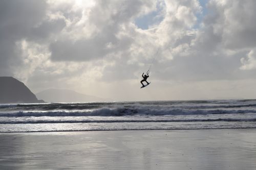
{"label": "faint hazy low hill on the horizon behind the dark headland", "polygon": [[105,99],[96,96],[81,94],[67,89],[47,89],[36,93],[37,98],[46,102],[69,103],[69,102],[102,102]]}

